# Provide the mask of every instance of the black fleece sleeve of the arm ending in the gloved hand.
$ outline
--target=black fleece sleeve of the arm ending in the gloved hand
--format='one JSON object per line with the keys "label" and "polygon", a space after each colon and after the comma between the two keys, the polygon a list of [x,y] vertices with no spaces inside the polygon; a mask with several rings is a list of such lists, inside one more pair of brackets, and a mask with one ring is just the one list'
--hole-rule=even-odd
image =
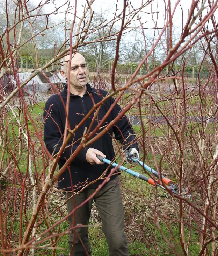
{"label": "black fleece sleeve of the arm ending in the gloved hand", "polygon": [[[114,98],[110,99],[111,104],[114,103]],[[112,110],[112,119],[115,119],[121,108],[118,104],[115,105]],[[136,134],[133,131],[132,125],[129,122],[129,119],[124,115],[117,123],[113,126],[113,132],[115,134],[115,139],[123,146],[123,150],[126,150],[130,147],[134,147],[139,151]]]}

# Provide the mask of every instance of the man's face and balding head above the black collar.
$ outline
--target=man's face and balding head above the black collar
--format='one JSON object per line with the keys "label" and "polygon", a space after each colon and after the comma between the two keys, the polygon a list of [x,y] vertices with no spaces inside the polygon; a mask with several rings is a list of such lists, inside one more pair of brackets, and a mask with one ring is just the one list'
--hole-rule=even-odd
{"label": "man's face and balding head above the black collar", "polygon": [[[69,70],[69,57],[65,57],[66,66],[65,70],[60,70],[61,75],[68,79],[68,70]],[[71,68],[70,68],[70,85],[74,88],[86,87],[87,84],[87,67],[85,58],[79,54],[72,54]]]}

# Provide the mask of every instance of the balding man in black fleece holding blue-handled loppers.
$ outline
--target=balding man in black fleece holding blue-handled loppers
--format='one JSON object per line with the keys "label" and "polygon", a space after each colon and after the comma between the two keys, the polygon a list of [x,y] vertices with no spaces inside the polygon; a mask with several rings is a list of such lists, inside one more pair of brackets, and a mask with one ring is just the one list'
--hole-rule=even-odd
{"label": "balding man in black fleece holding blue-handled loppers", "polygon": [[[64,67],[60,70],[61,75],[66,79],[68,78],[69,58],[70,55],[65,56]],[[106,96],[107,92],[94,89],[87,83],[85,58],[79,53],[72,54],[70,81],[68,81],[68,85],[65,86],[64,91],[60,94],[65,105],[67,99],[67,86],[70,86],[71,93],[69,122],[71,129],[73,129],[92,108],[93,101],[95,103],[100,102],[103,97]],[[44,140],[50,153],[57,153],[63,142],[62,139],[65,128],[65,109],[63,107],[63,101],[61,101],[60,96],[56,94],[50,97],[45,104]],[[88,128],[91,122],[93,122],[90,129],[90,132],[92,132],[100,120],[105,116],[113,102],[113,98],[104,102],[99,109],[95,120],[93,120],[94,113],[92,113],[92,116],[90,116],[75,134],[73,134],[69,142],[69,145],[71,144],[71,146],[67,147],[60,157],[59,169],[80,144],[85,127]],[[120,110],[121,108],[116,104],[102,126],[110,123],[118,115]],[[101,130],[102,129],[100,129],[100,131]],[[96,133],[100,131],[97,131]],[[115,138],[123,145],[124,150],[128,149],[130,155],[135,154],[136,157],[139,157],[135,133],[133,132],[128,119],[124,116],[112,129],[95,141],[91,147],[83,148],[71,163],[70,169],[66,169],[61,176],[58,182],[58,189],[67,191],[66,200],[72,196],[72,198],[67,201],[68,213],[70,213],[75,206],[80,205],[80,203],[92,195],[99,184],[103,182],[103,179],[100,179],[88,186],[88,188],[85,188],[79,194],[75,193],[78,192],[82,186],[98,179],[108,167],[101,162],[96,155],[101,155],[108,159],[114,158],[115,154],[112,147],[113,133]],[[109,174],[110,169],[111,168],[109,168],[106,175]],[[124,232],[124,213],[118,175],[111,176],[110,181],[100,189],[93,199],[102,219],[103,232],[109,245],[110,255],[129,255],[127,239]],[[92,202],[93,200],[89,200],[88,203],[81,206],[75,211],[75,214],[72,214],[69,217],[72,227],[77,224],[86,225],[86,227],[73,229],[70,234],[69,246],[72,255],[91,254],[88,241],[88,223]]]}

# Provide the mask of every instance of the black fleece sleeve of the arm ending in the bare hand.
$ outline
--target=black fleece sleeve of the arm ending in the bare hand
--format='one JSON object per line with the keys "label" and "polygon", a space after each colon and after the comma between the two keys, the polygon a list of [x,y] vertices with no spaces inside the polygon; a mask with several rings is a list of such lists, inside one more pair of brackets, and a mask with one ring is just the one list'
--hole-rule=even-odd
{"label": "black fleece sleeve of the arm ending in the bare hand", "polygon": [[[60,113],[57,105],[55,106],[48,101],[45,104],[44,109],[44,141],[46,148],[50,154],[56,154],[59,152],[61,145],[63,144],[63,133],[64,128],[61,122]],[[78,146],[72,146],[68,144],[65,148],[64,153],[60,156],[61,159],[68,159],[72,153],[77,149]],[[80,153],[75,157],[74,161],[83,161],[86,160],[86,152],[88,148],[84,148]]]}

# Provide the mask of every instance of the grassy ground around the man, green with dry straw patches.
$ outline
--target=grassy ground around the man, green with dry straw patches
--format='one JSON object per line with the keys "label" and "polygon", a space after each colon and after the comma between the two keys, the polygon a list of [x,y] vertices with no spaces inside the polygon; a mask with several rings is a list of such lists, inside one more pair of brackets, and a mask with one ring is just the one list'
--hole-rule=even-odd
{"label": "grassy ground around the man, green with dry straw patches", "polygon": [[[36,105],[34,109],[31,111],[31,117],[34,119],[38,128],[42,128],[42,115],[44,103],[39,103]],[[31,110],[31,106],[29,106]],[[10,113],[8,113],[10,115]],[[10,129],[9,129],[9,137],[16,137],[18,134],[18,127],[16,125],[15,118],[12,117],[10,120]],[[34,128],[29,120],[28,122],[29,130],[32,138],[35,138]],[[135,131],[139,132],[140,126],[135,126]],[[156,131],[158,132],[158,131]],[[160,132],[160,131],[159,131]],[[158,134],[156,134],[158,135]],[[160,132],[161,135],[161,132]],[[13,141],[11,142],[13,144]],[[38,147],[37,147],[38,145]],[[36,168],[38,171],[42,168],[43,162],[41,158],[40,144],[36,142],[35,149],[37,154],[37,162]],[[1,156],[1,152],[0,152]],[[148,158],[152,159],[152,154],[148,154]],[[158,156],[157,156],[158,158]],[[5,160],[7,160],[7,155],[5,155]],[[152,166],[153,167],[153,166]],[[22,158],[19,162],[19,168],[22,173],[26,172],[27,168],[27,148],[23,149]],[[133,168],[133,170],[137,172],[141,172],[142,170],[139,166]],[[173,179],[173,177],[170,177]],[[172,245],[175,246],[175,250],[178,253],[182,252],[181,246],[179,245],[179,222],[172,220],[178,218],[177,209],[179,209],[179,201],[173,198],[170,198],[168,194],[161,190],[157,189],[157,194],[155,192],[155,188],[146,182],[139,180],[135,177],[132,177],[130,174],[122,173],[121,174],[121,184],[122,184],[122,194],[123,194],[123,205],[125,211],[125,222],[126,222],[126,234],[128,236],[129,242],[129,251],[130,255],[174,255],[172,248],[169,247],[165,240],[168,240]],[[7,185],[7,181],[5,181],[5,185]],[[17,186],[19,189],[19,185]],[[52,207],[60,205],[60,203],[64,202],[63,197],[60,197],[55,191],[51,190],[51,194],[53,197],[57,197],[57,203],[54,202]],[[52,197],[50,198],[50,202],[52,202]],[[156,208],[156,211],[164,216],[164,220],[158,218],[158,223],[161,228],[160,230],[154,224],[154,210],[149,206]],[[31,207],[30,207],[31,208]],[[63,209],[63,212],[66,214],[66,208]],[[94,208],[94,216],[90,221],[89,225],[89,237],[90,237],[90,246],[92,249],[92,255],[95,256],[104,256],[108,255],[108,246],[102,233],[101,229],[101,221],[100,217],[96,213],[96,209]],[[29,212],[31,214],[31,210]],[[17,216],[18,217],[18,216]],[[169,219],[171,218],[171,220]],[[50,219],[50,225],[55,221],[60,219],[59,215],[54,215]],[[8,230],[10,223],[8,222]],[[192,223],[193,226],[196,226],[195,223]],[[171,230],[169,230],[169,227]],[[45,224],[43,223],[39,227],[39,231],[43,232],[45,229]],[[67,230],[68,223],[67,221],[60,224],[60,231]],[[185,226],[185,234],[187,234],[188,239],[188,226]],[[19,230],[19,219],[15,219],[13,234],[14,238],[17,238]],[[58,229],[55,229],[57,231]],[[161,234],[162,233],[162,234]],[[163,239],[163,235],[166,239]],[[155,241],[155,243],[154,243]],[[198,255],[199,252],[199,234],[196,230],[192,230],[191,232],[191,244],[189,247],[190,255]],[[48,242],[47,242],[48,243]],[[43,245],[40,244],[40,245]],[[64,235],[60,241],[57,243],[57,247],[64,248],[64,250],[58,249],[56,251],[56,255],[58,254],[68,254],[68,235]],[[210,249],[210,247],[209,247]],[[42,250],[37,250],[35,255],[40,255]],[[52,255],[52,250],[46,251],[44,255]],[[182,254],[181,254],[182,255]]]}

